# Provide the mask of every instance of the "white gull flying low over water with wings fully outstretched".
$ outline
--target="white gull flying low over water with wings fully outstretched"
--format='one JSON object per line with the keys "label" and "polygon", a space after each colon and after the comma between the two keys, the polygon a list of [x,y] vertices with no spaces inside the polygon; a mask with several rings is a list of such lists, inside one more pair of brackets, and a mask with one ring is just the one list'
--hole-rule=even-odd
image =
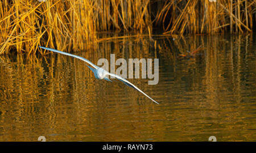
{"label": "white gull flying low over water with wings fully outstretched", "polygon": [[[93,68],[92,68],[92,67],[89,67],[89,66],[86,64],[87,67],[89,67],[90,70],[92,70],[92,72],[94,73],[94,76],[95,76],[97,79],[100,79],[100,80],[105,79],[105,80],[107,80],[107,81],[111,81],[111,80],[109,80],[109,78],[106,77],[106,76],[107,76],[107,75],[113,76],[113,77],[117,78],[118,80],[122,81],[125,85],[130,86],[131,88],[134,88],[134,89],[138,90],[139,92],[143,93],[144,96],[147,96],[146,93],[142,92],[141,89],[139,89],[139,88],[137,88],[137,86],[131,84],[131,82],[127,81],[125,78],[122,78],[121,76],[115,75],[115,74],[113,74],[113,73],[109,73],[109,72],[105,71],[105,69],[102,69],[102,68],[98,67],[97,65],[94,65],[92,62],[90,62],[89,60],[84,59],[83,57],[80,57],[80,56],[77,56],[77,55],[73,55],[73,54],[67,53],[67,52],[61,52],[61,51],[58,51],[58,50],[52,49],[52,48],[41,47],[41,46],[39,46],[39,47],[40,47],[40,48],[43,48],[43,49],[47,49],[48,51],[61,53],[61,54],[64,54],[64,55],[72,56],[72,57],[75,57],[75,58],[77,58],[77,59],[83,60],[83,61],[85,61],[87,64],[90,64],[90,65],[93,67]],[[111,81],[111,82],[112,82],[112,81]],[[147,96],[147,97],[150,98],[149,96]],[[156,102],[156,101],[153,100],[152,98],[150,98],[150,100],[154,101],[156,104],[159,104],[158,102]]]}

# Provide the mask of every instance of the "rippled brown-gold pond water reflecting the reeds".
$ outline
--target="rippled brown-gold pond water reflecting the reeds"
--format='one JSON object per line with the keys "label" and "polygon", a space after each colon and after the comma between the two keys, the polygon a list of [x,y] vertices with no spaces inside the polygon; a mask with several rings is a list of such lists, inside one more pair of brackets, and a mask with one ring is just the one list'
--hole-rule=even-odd
{"label": "rippled brown-gold pond water reflecting the reeds", "polygon": [[129,81],[160,105],[122,82],[96,80],[72,57],[0,56],[0,141],[255,141],[256,36],[154,39],[74,54],[94,64],[110,53],[158,58],[157,85]]}

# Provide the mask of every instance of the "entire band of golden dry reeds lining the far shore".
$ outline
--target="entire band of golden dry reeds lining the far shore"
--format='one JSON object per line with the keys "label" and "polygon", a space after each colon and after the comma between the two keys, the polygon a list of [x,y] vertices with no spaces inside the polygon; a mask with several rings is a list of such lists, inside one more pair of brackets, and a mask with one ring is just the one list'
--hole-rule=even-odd
{"label": "entire band of golden dry reeds lining the far shore", "polygon": [[[101,32],[180,36],[253,32],[256,0],[87,0],[0,1],[0,55],[11,49],[27,55],[38,46],[70,52],[96,48]],[[162,31],[154,35],[155,30]],[[129,37],[129,36],[127,36]]]}

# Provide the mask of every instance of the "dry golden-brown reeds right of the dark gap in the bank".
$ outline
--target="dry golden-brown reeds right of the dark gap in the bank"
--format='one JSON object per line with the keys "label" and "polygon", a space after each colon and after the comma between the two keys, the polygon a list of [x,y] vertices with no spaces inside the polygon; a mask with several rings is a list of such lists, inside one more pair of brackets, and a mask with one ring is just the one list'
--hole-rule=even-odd
{"label": "dry golden-brown reeds right of the dark gap in the bank", "polygon": [[156,16],[164,34],[252,31],[256,1],[166,1]]}

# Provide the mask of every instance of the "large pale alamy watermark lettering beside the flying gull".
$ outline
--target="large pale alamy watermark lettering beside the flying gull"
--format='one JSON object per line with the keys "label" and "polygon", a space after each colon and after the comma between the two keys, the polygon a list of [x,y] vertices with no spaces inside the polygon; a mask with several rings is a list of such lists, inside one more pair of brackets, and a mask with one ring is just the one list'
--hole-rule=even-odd
{"label": "large pale alamy watermark lettering beside the flying gull", "polygon": [[[156,85],[159,81],[159,59],[117,59],[115,55],[110,54],[110,73],[121,76],[123,78],[149,78],[148,85]],[[109,61],[107,59],[99,59],[97,65],[109,72]],[[115,65],[119,66],[115,70]],[[141,65],[141,69],[140,69]],[[127,68],[128,67],[128,68]],[[154,69],[154,72],[152,70]],[[140,73],[141,70],[141,73]],[[114,78],[114,77],[110,77]]]}

